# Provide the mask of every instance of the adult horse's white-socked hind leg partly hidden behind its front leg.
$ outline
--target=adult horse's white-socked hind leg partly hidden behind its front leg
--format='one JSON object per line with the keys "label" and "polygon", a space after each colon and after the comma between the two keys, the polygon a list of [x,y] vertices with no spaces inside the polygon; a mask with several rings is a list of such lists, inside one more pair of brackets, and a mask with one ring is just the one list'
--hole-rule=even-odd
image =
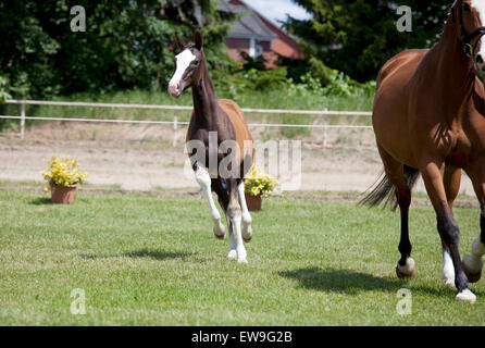
{"label": "adult horse's white-socked hind leg partly hidden behind its front leg", "polygon": [[[456,166],[447,166],[445,169],[445,175],[443,177],[443,184],[445,185],[446,198],[448,207],[452,213],[453,202],[460,191],[461,182],[461,169]],[[443,245],[443,272],[442,277],[445,284],[449,287],[455,287],[455,268],[449,247],[445,244],[442,237]]]}

